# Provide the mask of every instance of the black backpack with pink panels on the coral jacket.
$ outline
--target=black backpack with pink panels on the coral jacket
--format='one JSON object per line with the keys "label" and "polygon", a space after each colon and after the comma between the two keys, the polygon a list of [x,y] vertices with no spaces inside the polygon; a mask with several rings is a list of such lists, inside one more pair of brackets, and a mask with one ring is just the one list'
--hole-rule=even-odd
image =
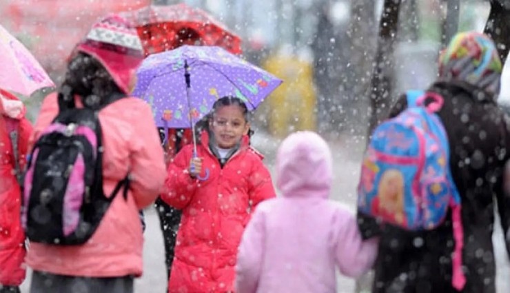
{"label": "black backpack with pink panels on the coral jacket", "polygon": [[76,108],[59,94],[59,114],[43,130],[29,156],[21,223],[30,241],[53,245],[83,244],[124,188],[126,175],[112,194],[103,191],[103,145],[99,110],[123,98],[113,94],[96,108]]}

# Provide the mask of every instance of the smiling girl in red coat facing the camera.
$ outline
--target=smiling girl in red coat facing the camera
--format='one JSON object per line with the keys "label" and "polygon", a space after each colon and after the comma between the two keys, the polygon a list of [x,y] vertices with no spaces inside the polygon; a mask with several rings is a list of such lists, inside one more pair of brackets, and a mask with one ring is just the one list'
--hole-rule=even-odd
{"label": "smiling girl in red coat facing the camera", "polygon": [[182,210],[169,292],[233,292],[241,234],[254,208],[275,196],[262,156],[249,147],[248,110],[236,97],[213,105],[209,129],[176,155],[162,199]]}

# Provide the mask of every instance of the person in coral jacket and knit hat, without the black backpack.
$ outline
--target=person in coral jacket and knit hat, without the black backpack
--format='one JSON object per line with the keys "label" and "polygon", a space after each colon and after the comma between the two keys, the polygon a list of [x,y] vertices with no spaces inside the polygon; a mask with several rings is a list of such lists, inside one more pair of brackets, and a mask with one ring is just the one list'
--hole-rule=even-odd
{"label": "person in coral jacket and knit hat, without the black backpack", "polygon": [[[70,58],[58,93],[63,101],[74,100],[81,107],[94,105],[95,101],[101,103],[113,95],[124,96],[98,115],[103,133],[104,192],[112,194],[128,173],[130,188],[125,197],[114,198],[87,242],[30,243],[26,258],[34,270],[30,293],[130,293],[134,277],[142,274],[139,210],[156,199],[165,179],[165,164],[149,105],[141,99],[125,97],[131,92],[133,74],[143,60],[141,50],[132,48],[139,43],[137,37],[134,28],[123,19],[105,17],[94,24]],[[58,112],[57,93],[50,94],[43,101],[33,141],[41,137]]]}

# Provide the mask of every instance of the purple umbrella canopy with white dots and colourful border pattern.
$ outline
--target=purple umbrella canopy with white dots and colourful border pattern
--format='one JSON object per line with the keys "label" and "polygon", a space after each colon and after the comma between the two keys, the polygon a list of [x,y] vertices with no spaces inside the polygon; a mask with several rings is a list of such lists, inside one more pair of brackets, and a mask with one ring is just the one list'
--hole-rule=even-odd
{"label": "purple umbrella canopy with white dots and colourful border pattern", "polygon": [[133,95],[150,103],[156,125],[169,128],[190,128],[227,95],[254,110],[282,82],[218,46],[182,46],[152,54],[136,77]]}

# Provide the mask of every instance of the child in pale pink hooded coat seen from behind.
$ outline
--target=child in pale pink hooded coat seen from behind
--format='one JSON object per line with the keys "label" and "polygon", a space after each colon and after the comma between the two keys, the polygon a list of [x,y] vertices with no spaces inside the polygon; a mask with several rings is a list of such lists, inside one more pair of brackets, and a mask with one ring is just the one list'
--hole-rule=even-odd
{"label": "child in pale pink hooded coat seen from behind", "polygon": [[276,157],[283,197],[258,206],[238,250],[236,293],[336,292],[335,267],[356,277],[376,258],[354,214],[329,201],[332,156],[314,132],[296,132]]}

